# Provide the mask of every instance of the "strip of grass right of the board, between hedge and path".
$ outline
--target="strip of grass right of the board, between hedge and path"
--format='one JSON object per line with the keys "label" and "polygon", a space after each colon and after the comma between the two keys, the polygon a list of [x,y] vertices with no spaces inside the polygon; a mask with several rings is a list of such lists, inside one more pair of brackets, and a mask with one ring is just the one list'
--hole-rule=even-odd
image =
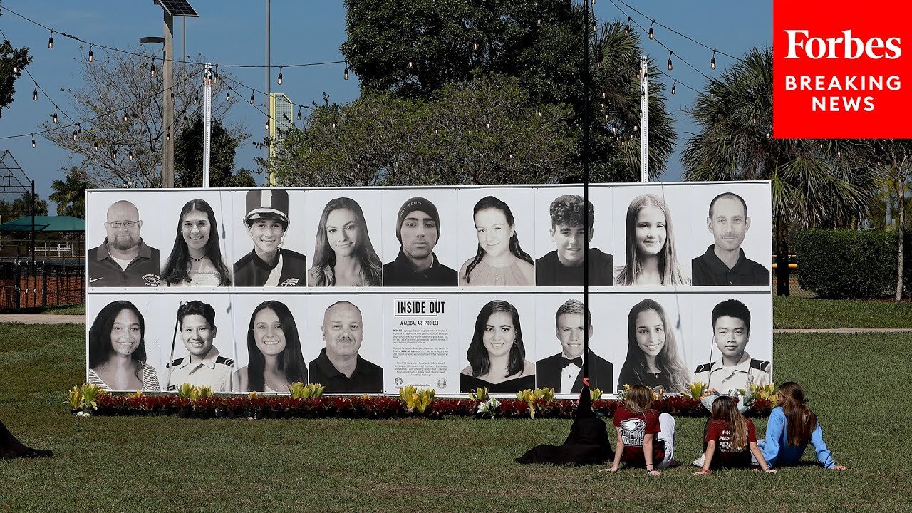
{"label": "strip of grass right of the board, between hedge and path", "polygon": [[912,302],[772,298],[773,328],[912,328]]}

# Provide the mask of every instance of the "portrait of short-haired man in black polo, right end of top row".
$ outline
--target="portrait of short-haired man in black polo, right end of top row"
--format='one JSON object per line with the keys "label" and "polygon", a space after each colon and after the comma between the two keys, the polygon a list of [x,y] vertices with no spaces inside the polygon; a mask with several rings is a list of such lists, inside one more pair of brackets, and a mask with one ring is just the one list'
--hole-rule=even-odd
{"label": "portrait of short-haired man in black polo, right end of top row", "polygon": [[691,260],[694,286],[769,285],[770,271],[744,256],[741,243],[751,229],[747,203],[734,193],[722,193],[710,202],[706,226],[714,244]]}

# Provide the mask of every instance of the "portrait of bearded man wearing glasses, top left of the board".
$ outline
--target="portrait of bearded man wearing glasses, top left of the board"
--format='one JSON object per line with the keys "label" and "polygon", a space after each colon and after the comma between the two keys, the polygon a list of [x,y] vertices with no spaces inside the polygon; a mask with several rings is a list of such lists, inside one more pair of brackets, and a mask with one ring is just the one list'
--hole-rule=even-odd
{"label": "portrait of bearded man wearing glasses, top left of the board", "polygon": [[142,242],[141,228],[135,204],[109,206],[105,241],[88,250],[88,287],[159,286],[159,250]]}

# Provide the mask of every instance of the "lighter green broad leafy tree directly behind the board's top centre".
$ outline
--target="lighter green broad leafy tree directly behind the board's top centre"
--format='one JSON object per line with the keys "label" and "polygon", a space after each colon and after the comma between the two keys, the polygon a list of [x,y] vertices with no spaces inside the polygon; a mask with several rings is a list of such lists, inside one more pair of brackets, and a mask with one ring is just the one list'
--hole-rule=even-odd
{"label": "lighter green broad leafy tree directly behind the board's top centre", "polygon": [[571,112],[529,109],[508,77],[451,84],[435,101],[385,93],[314,107],[262,162],[285,185],[555,183],[575,157]]}

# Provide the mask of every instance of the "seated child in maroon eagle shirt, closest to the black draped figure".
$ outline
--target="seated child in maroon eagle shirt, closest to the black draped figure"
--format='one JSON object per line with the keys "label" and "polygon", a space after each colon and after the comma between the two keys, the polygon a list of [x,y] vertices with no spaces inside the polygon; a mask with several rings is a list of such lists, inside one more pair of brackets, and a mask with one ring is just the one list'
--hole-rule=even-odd
{"label": "seated child in maroon eagle shirt, closest to the black draped figure", "polygon": [[621,459],[627,466],[645,467],[649,476],[661,476],[659,468],[678,466],[675,454],[675,419],[652,409],[652,391],[644,385],[633,385],[627,401],[615,411],[617,451],[610,468],[615,472]]}

